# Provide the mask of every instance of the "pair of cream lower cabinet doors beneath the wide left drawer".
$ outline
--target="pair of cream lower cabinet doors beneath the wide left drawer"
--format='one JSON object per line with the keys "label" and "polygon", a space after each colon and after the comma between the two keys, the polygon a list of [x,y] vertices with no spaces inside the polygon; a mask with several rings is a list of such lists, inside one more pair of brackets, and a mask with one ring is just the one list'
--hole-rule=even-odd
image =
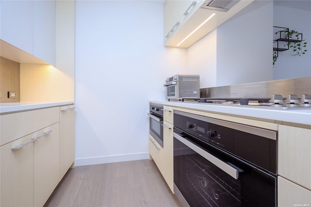
{"label": "pair of cream lower cabinet doors beneath the wide left drawer", "polygon": [[1,146],[1,207],[42,207],[59,182],[59,122]]}

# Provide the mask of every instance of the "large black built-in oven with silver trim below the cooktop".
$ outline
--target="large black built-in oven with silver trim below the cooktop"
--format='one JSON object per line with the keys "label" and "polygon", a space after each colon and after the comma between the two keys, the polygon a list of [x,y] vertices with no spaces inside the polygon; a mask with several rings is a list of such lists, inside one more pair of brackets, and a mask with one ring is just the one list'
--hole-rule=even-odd
{"label": "large black built-in oven with silver trim below the cooktop", "polygon": [[174,192],[190,207],[276,207],[275,131],[174,111]]}

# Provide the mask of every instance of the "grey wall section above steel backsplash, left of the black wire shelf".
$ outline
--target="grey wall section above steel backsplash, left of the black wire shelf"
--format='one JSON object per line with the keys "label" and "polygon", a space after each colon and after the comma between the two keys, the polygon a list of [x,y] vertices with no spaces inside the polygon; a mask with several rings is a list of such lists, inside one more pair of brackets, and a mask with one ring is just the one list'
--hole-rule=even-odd
{"label": "grey wall section above steel backsplash, left of the black wire shelf", "polygon": [[254,1],[217,28],[217,84],[273,78],[273,2]]}

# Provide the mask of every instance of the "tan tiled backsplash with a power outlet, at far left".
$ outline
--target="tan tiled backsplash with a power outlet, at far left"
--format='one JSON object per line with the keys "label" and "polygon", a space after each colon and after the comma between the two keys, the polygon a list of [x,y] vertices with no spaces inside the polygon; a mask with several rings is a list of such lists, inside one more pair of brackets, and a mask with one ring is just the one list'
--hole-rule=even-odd
{"label": "tan tiled backsplash with a power outlet, at far left", "polygon": [[0,57],[0,103],[20,101],[19,66],[15,61]]}

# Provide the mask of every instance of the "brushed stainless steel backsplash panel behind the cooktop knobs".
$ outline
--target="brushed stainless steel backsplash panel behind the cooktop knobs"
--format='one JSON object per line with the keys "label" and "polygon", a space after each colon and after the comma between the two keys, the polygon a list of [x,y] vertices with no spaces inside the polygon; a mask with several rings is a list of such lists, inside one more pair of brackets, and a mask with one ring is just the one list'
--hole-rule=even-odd
{"label": "brushed stainless steel backsplash panel behind the cooktop knobs", "polygon": [[311,77],[200,89],[202,98],[270,98],[274,94],[285,98],[291,94],[299,98],[303,94],[311,94]]}

